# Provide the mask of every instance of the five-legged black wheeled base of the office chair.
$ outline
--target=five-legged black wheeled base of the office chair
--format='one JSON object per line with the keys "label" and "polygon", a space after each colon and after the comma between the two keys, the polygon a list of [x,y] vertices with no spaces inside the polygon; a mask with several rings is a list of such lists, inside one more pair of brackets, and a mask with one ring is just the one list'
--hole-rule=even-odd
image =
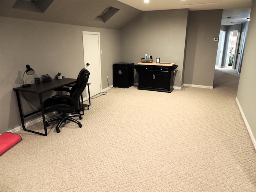
{"label": "five-legged black wheeled base of the office chair", "polygon": [[81,120],[83,117],[82,117],[80,114],[72,114],[72,115],[68,115],[68,116],[67,116],[67,113],[66,113],[66,112],[63,112],[62,114],[63,114],[62,117],[56,117],[56,118],[52,118],[52,119],[46,121],[46,126],[47,126],[47,127],[50,126],[49,123],[52,122],[52,121],[58,121],[58,120],[59,120],[58,125],[56,126],[56,132],[57,132],[57,133],[60,132],[59,128],[60,128],[61,124],[62,124],[63,122],[66,122],[67,120],[72,121],[72,122],[78,124],[78,126],[79,126],[80,128],[83,126],[79,121],[77,121],[77,120],[71,118],[71,117],[77,117],[77,116],[79,116],[79,119]]}

